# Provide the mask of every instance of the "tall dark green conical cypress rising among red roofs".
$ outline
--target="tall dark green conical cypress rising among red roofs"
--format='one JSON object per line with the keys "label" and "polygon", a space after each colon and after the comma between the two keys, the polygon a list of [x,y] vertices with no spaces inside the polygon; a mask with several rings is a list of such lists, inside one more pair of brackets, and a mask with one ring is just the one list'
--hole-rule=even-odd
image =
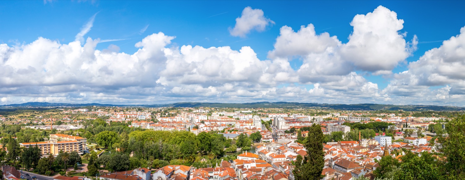
{"label": "tall dark green conical cypress rising among red roofs", "polygon": [[323,132],[319,124],[313,124],[307,135],[305,144],[307,155],[302,159],[299,155],[292,173],[296,180],[319,180],[325,166],[323,152]]}

